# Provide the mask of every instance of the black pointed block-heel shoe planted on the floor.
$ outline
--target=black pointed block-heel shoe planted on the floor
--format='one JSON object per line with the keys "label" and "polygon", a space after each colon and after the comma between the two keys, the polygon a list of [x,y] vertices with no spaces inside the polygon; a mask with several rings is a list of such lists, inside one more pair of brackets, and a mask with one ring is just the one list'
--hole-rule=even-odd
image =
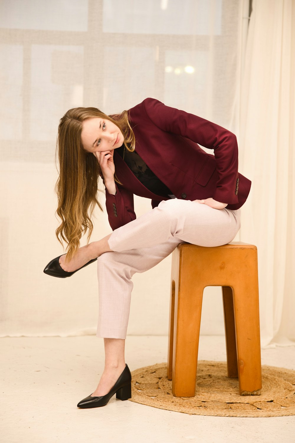
{"label": "black pointed block-heel shoe planted on the floor", "polygon": [[125,369],[115,382],[115,385],[112,387],[110,392],[100,397],[92,397],[90,394],[88,397],[85,397],[83,400],[79,401],[77,407],[85,409],[105,406],[115,393],[116,398],[119,398],[120,400],[128,400],[128,398],[131,398],[131,373],[127,363],[125,364]]}

